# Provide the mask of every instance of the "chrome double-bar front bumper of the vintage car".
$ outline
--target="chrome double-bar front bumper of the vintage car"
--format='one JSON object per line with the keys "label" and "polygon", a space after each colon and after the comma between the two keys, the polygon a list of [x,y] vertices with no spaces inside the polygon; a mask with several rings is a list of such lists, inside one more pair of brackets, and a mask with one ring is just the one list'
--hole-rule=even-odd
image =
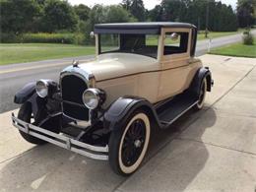
{"label": "chrome double-bar front bumper of the vintage car", "polygon": [[56,146],[59,146],[66,150],[70,150],[91,159],[108,160],[107,145],[105,147],[92,146],[75,140],[74,138],[70,138],[66,135],[53,133],[51,131],[36,127],[30,123],[18,119],[17,117],[15,117],[14,113],[12,113],[12,121],[15,127],[27,134],[32,135],[33,137],[44,140],[48,143],[54,144]]}

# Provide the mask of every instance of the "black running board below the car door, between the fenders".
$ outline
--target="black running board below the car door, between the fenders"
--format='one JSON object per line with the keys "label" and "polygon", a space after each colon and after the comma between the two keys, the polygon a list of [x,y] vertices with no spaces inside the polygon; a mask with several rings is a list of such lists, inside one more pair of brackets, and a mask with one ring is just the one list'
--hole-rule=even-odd
{"label": "black running board below the car door, between the fenders", "polygon": [[166,128],[198,103],[197,96],[182,94],[175,96],[157,109],[161,128]]}

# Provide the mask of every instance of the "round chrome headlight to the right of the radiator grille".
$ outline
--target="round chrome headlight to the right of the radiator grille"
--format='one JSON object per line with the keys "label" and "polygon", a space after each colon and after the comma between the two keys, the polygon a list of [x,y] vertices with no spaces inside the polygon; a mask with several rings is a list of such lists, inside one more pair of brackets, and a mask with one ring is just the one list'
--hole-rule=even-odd
{"label": "round chrome headlight to the right of the radiator grille", "polygon": [[95,109],[103,101],[104,96],[100,90],[88,89],[83,94],[83,102],[90,109]]}

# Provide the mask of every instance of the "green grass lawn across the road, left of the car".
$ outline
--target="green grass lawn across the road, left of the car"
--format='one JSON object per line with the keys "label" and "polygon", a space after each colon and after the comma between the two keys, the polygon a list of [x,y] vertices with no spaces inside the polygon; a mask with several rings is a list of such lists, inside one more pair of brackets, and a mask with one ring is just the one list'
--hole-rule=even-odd
{"label": "green grass lawn across the road, left of the car", "polygon": [[94,46],[0,43],[0,65],[95,54]]}

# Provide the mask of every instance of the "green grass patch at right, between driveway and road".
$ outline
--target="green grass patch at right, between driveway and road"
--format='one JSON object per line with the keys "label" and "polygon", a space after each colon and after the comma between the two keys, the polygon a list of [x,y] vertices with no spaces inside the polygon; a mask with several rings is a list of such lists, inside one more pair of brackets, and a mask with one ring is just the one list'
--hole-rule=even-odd
{"label": "green grass patch at right, between driveway and road", "polygon": [[214,49],[211,54],[256,58],[256,38],[254,39],[254,45],[235,43]]}

